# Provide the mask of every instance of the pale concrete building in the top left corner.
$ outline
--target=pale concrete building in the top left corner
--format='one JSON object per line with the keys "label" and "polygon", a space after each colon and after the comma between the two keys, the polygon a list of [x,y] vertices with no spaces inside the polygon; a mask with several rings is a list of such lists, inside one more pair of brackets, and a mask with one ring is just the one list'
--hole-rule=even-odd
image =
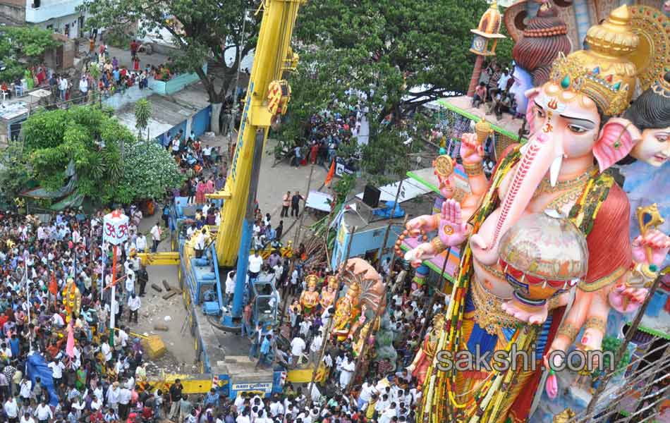
{"label": "pale concrete building in the top left corner", "polygon": [[82,36],[83,0],[0,0],[0,16],[18,25],[32,24],[68,38]]}

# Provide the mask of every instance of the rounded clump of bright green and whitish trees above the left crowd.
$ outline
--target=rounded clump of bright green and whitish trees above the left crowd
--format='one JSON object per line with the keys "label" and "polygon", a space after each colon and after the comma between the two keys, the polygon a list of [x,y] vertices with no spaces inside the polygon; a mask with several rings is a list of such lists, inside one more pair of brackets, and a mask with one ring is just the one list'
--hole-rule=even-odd
{"label": "rounded clump of bright green and whitish trees above the left crowd", "polygon": [[183,181],[168,152],[138,141],[96,106],[34,114],[23,123],[23,135],[31,176],[47,190],[66,185],[72,166],[78,193],[98,202],[162,197]]}

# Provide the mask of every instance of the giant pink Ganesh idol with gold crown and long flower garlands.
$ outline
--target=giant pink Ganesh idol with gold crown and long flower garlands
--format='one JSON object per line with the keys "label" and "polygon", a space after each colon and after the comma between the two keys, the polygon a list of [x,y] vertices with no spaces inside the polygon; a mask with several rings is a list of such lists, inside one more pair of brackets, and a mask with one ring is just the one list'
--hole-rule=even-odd
{"label": "giant pink Ganesh idol with gold crown and long flower garlands", "polygon": [[[439,235],[415,247],[414,257],[426,259],[466,242],[418,421],[527,421],[543,364],[560,364],[560,357],[543,358],[573,344],[600,349],[611,304],[645,299],[645,288],[626,285],[635,259],[648,266],[647,257],[662,257],[670,244],[648,231],[650,242],[631,246],[628,199],[607,171],[636,138],[632,125],[609,122],[635,86],[627,56],[638,37],[630,22],[622,6],[589,30],[590,50],[559,55],[549,81],[527,92],[528,142],[507,149],[480,208],[465,222],[460,205],[448,200]],[[471,168],[481,166],[476,155],[468,159],[475,159],[465,163]],[[640,254],[642,245],[654,254]],[[453,367],[459,351],[512,347],[537,366]]]}

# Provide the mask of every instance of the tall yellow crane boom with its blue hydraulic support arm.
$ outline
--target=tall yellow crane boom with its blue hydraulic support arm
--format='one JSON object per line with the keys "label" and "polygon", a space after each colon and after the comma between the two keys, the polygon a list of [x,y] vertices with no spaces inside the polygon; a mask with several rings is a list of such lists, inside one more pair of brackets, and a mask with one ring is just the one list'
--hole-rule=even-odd
{"label": "tall yellow crane boom with its blue hydraulic support arm", "polygon": [[[248,270],[254,202],[260,161],[267,132],[279,114],[286,113],[291,89],[284,72],[294,71],[298,55],[291,50],[291,35],[298,8],[305,0],[262,0],[263,17],[241,116],[238,140],[223,190],[209,195],[224,200],[216,250],[219,266],[232,267],[237,259],[232,317],[242,312]],[[231,317],[224,317],[224,324]]]}

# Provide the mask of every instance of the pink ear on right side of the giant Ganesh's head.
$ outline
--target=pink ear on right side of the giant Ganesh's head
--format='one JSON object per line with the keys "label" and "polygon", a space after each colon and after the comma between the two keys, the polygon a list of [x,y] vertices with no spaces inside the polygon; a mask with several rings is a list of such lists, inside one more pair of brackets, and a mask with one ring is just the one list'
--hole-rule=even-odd
{"label": "pink ear on right side of the giant Ganesh's head", "polygon": [[600,172],[626,157],[641,139],[640,130],[631,121],[623,118],[611,118],[607,121],[593,147],[593,155],[598,161]]}

